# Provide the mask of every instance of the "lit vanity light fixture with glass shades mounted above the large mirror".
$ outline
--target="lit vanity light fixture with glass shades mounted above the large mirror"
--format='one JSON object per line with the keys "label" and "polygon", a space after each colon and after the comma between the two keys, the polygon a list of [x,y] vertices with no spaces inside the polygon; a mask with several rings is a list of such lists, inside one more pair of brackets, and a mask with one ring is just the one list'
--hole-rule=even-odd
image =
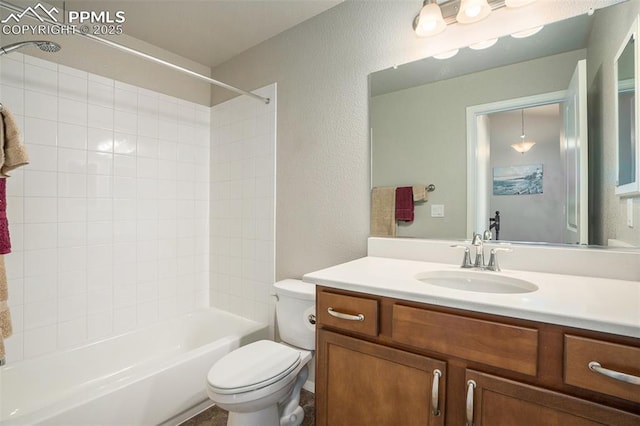
{"label": "lit vanity light fixture with glass shades mounted above the large mirror", "polygon": [[502,7],[521,7],[536,0],[424,0],[420,13],[413,19],[413,30],[419,37],[441,33],[447,25],[471,24]]}

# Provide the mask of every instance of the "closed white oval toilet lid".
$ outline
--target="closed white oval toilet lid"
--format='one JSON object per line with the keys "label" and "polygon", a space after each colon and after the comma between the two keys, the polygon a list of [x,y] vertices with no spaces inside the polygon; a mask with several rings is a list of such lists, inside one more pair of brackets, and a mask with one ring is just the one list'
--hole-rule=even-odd
{"label": "closed white oval toilet lid", "polygon": [[300,364],[300,351],[271,340],[242,346],[220,358],[207,375],[222,394],[248,392],[277,382]]}

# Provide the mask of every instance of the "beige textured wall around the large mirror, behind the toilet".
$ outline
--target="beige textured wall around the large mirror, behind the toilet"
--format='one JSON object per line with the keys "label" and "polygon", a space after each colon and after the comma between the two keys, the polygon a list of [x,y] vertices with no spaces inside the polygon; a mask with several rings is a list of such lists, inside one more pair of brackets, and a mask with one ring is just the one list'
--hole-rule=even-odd
{"label": "beige textured wall around the large mirror, behind the toilet", "polygon": [[420,1],[346,1],[212,70],[248,89],[278,83],[276,278],[366,254],[371,72],[607,3],[542,1],[419,39]]}

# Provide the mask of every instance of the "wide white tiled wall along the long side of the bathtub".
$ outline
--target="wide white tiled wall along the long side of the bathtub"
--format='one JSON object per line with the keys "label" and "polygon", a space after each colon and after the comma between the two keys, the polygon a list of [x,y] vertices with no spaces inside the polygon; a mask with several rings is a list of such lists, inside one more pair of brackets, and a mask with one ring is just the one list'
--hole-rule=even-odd
{"label": "wide white tiled wall along the long side of the bathtub", "polygon": [[[7,181],[9,362],[209,304],[211,108],[19,53],[0,59],[0,102],[31,156]],[[231,158],[235,151],[224,169],[235,176]],[[232,201],[244,190],[273,195],[265,187],[273,171],[258,163],[253,184],[229,184],[221,199],[230,210],[216,217],[256,237],[234,250],[266,259],[273,253],[258,243],[258,217],[247,229],[236,220],[254,208],[272,211],[272,202],[239,209]],[[258,179],[263,173],[267,180]],[[252,271],[261,268],[256,260]]]}

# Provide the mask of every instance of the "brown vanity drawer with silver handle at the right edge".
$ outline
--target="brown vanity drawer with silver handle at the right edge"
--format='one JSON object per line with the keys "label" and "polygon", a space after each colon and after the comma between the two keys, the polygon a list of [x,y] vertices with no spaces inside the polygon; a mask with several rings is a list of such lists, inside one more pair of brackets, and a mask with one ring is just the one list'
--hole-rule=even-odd
{"label": "brown vanity drawer with silver handle at the right edge", "polygon": [[640,384],[610,378],[589,368],[589,363],[597,362],[606,370],[635,376],[640,382],[639,347],[565,334],[564,353],[566,384],[640,403]]}

